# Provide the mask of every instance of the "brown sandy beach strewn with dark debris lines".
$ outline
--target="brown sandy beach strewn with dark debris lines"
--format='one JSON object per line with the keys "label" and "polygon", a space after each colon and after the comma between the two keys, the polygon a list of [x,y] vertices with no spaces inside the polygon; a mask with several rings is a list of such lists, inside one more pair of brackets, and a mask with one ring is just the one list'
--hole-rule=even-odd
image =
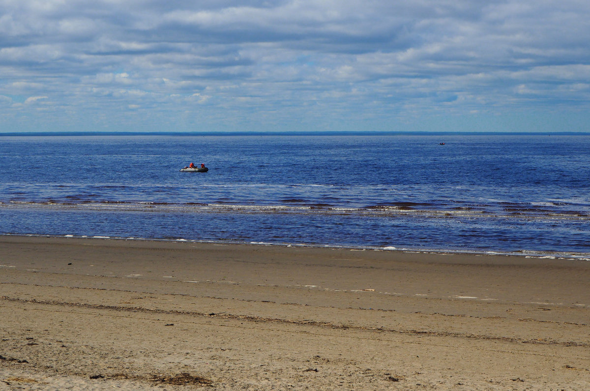
{"label": "brown sandy beach strewn with dark debris lines", "polygon": [[590,262],[0,236],[0,389],[588,390]]}

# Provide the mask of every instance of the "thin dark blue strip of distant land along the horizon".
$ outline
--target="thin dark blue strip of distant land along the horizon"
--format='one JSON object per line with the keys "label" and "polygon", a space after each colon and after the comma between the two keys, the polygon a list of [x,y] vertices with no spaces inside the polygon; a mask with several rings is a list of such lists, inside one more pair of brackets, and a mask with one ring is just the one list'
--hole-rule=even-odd
{"label": "thin dark blue strip of distant land along the horizon", "polygon": [[588,136],[590,132],[404,132],[404,131],[326,131],[326,132],[0,132],[2,136]]}

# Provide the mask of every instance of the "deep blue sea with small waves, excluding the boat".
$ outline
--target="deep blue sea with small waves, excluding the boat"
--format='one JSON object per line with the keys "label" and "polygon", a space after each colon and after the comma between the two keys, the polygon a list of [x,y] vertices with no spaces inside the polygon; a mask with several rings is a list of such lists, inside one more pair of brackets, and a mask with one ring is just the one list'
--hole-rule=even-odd
{"label": "deep blue sea with small waves, excluding the boat", "polygon": [[0,234],[590,258],[589,135],[4,136],[0,178]]}

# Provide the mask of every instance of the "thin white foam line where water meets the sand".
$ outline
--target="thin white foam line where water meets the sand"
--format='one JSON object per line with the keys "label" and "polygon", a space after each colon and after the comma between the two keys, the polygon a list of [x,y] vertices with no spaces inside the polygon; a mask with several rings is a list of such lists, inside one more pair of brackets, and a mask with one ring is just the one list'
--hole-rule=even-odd
{"label": "thin white foam line where water meets the sand", "polygon": [[251,246],[276,246],[276,247],[306,247],[312,249],[342,249],[353,251],[385,251],[385,252],[408,252],[421,254],[441,254],[441,255],[473,255],[473,256],[516,256],[532,259],[561,259],[561,260],[582,260],[590,261],[590,253],[585,252],[558,252],[558,251],[543,251],[543,250],[519,250],[519,251],[501,251],[501,250],[457,250],[457,249],[419,249],[411,247],[395,247],[395,246],[346,246],[346,245],[319,245],[307,243],[282,243],[282,242],[238,242],[229,240],[196,240],[196,239],[160,239],[150,237],[118,237],[118,236],[88,236],[88,235],[72,235],[72,234],[16,234],[16,233],[2,233],[0,238],[6,237],[48,237],[48,238],[66,238],[66,239],[89,239],[89,240],[131,240],[137,242],[186,242],[186,243],[204,243],[204,244],[221,244],[221,245],[251,245]]}

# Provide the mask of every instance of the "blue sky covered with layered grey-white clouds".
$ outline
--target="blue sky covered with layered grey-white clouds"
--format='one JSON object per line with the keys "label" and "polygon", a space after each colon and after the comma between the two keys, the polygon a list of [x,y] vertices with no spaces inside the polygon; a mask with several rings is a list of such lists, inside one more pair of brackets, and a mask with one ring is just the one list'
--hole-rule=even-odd
{"label": "blue sky covered with layered grey-white clouds", "polygon": [[590,131],[587,0],[0,0],[0,132]]}

